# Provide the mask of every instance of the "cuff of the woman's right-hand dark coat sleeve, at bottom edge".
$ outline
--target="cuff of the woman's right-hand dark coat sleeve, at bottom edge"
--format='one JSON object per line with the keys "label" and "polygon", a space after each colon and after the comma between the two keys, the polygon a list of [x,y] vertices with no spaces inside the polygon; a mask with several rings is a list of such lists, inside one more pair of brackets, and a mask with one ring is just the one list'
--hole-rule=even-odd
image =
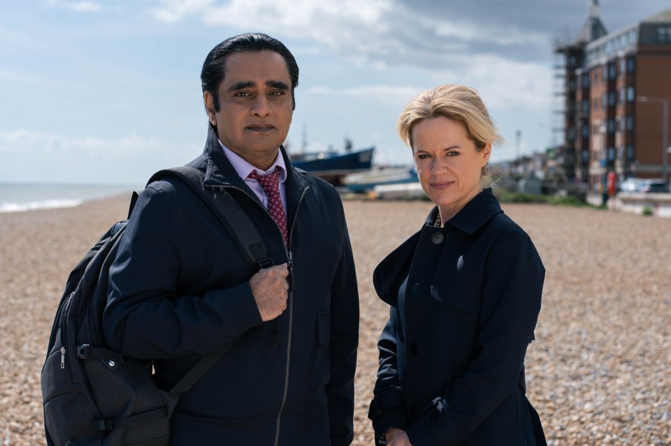
{"label": "cuff of the woman's right-hand dark coat sleeve, at bottom edge", "polygon": [[421,417],[407,429],[407,437],[413,445],[461,445],[470,438],[449,415],[442,398],[433,400]]}

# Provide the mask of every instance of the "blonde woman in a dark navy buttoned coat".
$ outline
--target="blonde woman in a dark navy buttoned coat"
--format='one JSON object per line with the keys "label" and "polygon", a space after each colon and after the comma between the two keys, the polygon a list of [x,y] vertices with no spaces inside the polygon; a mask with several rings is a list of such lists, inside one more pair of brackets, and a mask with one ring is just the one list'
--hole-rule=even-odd
{"label": "blonde woman in a dark navy buttoned coat", "polygon": [[436,205],[382,260],[373,282],[391,306],[368,417],[377,445],[543,445],[524,396],[545,270],[491,193],[500,137],[477,92],[425,91],[398,119]]}

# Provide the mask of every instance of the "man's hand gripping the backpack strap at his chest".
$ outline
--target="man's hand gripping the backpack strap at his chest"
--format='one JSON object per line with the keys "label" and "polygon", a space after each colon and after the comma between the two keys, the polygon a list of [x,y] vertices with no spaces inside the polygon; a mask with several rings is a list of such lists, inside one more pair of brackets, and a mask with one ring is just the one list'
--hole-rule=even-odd
{"label": "man's hand gripping the backpack strap at his chest", "polygon": [[257,301],[261,320],[273,320],[287,309],[287,282],[289,269],[287,264],[261,269],[250,278],[250,288]]}

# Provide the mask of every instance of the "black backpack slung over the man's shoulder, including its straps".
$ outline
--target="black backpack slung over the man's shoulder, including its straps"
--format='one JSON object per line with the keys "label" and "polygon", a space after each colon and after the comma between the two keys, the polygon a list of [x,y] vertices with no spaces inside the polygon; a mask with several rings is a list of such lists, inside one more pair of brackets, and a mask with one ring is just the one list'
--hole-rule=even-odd
{"label": "black backpack slung over the man's shoulder, including its straps", "polygon": [[[180,178],[215,212],[247,262],[261,268],[273,265],[252,221],[231,195],[215,197],[203,190],[203,172],[187,167],[161,170],[147,184],[166,176]],[[203,356],[167,392],[154,384],[151,361],[106,348],[101,321],[109,268],[126,223],[115,223],[68,277],[41,375],[49,446],[168,444],[169,419],[180,396],[235,343]]]}

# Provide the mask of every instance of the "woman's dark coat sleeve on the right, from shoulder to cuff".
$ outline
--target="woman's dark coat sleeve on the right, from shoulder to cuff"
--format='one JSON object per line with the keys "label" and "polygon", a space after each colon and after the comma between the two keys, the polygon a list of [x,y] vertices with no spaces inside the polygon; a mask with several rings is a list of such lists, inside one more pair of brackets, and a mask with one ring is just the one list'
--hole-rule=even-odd
{"label": "woman's dark coat sleeve on the right, from shoulder to cuff", "polygon": [[413,445],[460,445],[517,386],[540,312],[545,270],[519,229],[500,235],[484,261],[477,355],[407,429]]}

